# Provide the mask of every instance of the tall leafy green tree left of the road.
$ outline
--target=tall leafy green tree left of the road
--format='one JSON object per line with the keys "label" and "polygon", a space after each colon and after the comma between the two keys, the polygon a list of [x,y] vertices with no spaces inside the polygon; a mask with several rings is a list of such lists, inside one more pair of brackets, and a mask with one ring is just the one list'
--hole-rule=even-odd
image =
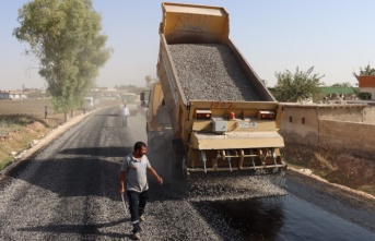
{"label": "tall leafy green tree left of the road", "polygon": [[108,60],[107,36],[91,0],[33,0],[19,10],[13,35],[30,44],[26,55],[39,60],[56,110],[78,107],[94,87],[98,69]]}

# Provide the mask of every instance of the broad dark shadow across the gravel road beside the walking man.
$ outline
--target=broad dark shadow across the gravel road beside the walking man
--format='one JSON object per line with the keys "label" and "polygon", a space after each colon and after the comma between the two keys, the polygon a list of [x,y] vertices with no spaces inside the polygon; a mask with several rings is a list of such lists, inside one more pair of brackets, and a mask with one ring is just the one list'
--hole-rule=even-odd
{"label": "broad dark shadow across the gravel road beside the walking man", "polygon": [[[21,179],[58,194],[70,196],[104,196],[121,202],[118,193],[122,157],[132,147],[71,148],[54,158],[35,158],[20,162],[8,173],[8,179]],[[159,186],[149,177],[150,186]],[[164,188],[164,186],[161,186]],[[153,195],[150,200],[165,200]]]}

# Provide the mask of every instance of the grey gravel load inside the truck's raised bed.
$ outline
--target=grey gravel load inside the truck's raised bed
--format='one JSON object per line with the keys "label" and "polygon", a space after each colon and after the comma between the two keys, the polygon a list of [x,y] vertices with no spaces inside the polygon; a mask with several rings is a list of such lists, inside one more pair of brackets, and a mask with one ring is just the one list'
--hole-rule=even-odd
{"label": "grey gravel load inside the truck's raised bed", "polygon": [[190,44],[168,48],[188,100],[260,100],[226,46]]}

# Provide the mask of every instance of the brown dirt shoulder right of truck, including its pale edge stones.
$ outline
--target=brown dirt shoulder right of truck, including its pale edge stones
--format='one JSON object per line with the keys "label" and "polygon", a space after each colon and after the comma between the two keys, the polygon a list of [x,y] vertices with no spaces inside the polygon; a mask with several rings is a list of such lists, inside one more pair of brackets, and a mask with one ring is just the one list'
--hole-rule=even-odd
{"label": "brown dirt shoulder right of truck, including its pale edge stones", "polygon": [[285,147],[285,159],[291,174],[317,181],[317,189],[339,190],[353,201],[375,204],[375,160],[371,157],[293,144]]}

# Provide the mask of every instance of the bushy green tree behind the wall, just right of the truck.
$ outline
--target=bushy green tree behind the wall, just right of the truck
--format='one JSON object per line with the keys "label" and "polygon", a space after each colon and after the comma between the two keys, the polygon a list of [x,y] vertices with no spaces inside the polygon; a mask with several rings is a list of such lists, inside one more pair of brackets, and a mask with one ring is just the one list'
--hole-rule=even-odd
{"label": "bushy green tree behind the wall, just right of the truck", "polygon": [[325,83],[320,82],[324,75],[313,73],[314,67],[309,68],[306,72],[300,71],[292,74],[289,70],[283,73],[276,73],[278,83],[273,88],[274,97],[279,101],[295,103],[300,99],[313,98],[314,95],[320,93],[319,85]]}

